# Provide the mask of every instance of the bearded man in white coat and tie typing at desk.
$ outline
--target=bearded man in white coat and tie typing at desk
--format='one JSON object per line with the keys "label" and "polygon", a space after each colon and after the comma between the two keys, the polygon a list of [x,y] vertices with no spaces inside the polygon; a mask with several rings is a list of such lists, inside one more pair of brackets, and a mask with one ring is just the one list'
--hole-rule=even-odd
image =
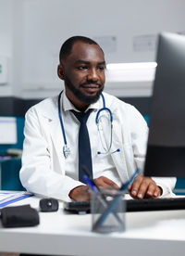
{"label": "bearded man in white coat and tie typing at desk", "polygon": [[[88,186],[80,181],[80,121],[71,110],[91,109],[86,121],[88,159],[96,185],[118,188],[139,168],[140,174],[129,186],[132,198],[170,194],[176,179],[142,176],[148,133],[142,115],[117,97],[102,93],[105,55],[100,46],[87,37],[71,37],[62,45],[59,60],[57,74],[65,90],[26,113],[22,185],[35,194],[65,201],[90,199]],[[82,148],[82,153],[86,151]]]}

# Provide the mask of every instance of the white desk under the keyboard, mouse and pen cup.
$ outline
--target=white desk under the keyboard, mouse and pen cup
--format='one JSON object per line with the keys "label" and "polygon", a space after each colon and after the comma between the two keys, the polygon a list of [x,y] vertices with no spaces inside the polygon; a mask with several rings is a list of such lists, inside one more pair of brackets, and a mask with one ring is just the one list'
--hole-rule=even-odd
{"label": "white desk under the keyboard, mouse and pen cup", "polygon": [[[38,207],[39,198],[21,203]],[[91,232],[91,214],[65,214],[62,203],[57,212],[40,213],[40,221],[29,228],[0,226],[0,251],[80,256],[185,253],[185,211],[128,212],[126,231],[111,235]]]}

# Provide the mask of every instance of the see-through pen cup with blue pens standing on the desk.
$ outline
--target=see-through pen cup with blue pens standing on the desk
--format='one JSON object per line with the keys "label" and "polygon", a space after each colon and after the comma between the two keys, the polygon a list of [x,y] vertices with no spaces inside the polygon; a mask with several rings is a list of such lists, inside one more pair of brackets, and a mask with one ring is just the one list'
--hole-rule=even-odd
{"label": "see-through pen cup with blue pens standing on the desk", "polygon": [[91,191],[92,230],[98,233],[125,231],[124,192],[112,188]]}

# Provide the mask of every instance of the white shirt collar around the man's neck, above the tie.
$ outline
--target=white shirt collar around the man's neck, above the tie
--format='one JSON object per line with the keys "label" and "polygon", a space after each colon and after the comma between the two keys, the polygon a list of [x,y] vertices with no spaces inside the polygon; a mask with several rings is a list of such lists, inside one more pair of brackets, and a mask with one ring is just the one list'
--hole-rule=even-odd
{"label": "white shirt collar around the man's neck, above the tie", "polygon": [[[62,93],[62,107],[64,111],[68,111],[68,110],[76,110],[79,111],[78,109],[75,108],[75,106],[70,102],[70,100],[68,99],[67,95],[66,95],[66,91],[64,90],[64,92]],[[88,109],[100,109],[101,106],[103,106],[102,103],[102,97],[100,97],[95,103],[91,104]],[[88,110],[86,109],[85,112]]]}

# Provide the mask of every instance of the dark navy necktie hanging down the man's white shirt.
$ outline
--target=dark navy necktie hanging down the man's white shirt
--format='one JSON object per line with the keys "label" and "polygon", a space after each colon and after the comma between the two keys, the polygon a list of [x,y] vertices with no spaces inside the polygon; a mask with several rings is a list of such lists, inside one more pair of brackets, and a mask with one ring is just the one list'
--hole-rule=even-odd
{"label": "dark navy necktie hanging down the man's white shirt", "polygon": [[93,178],[93,167],[92,167],[92,150],[90,145],[90,138],[87,129],[86,122],[88,117],[93,109],[89,109],[87,112],[77,112],[75,110],[71,110],[76,118],[80,122],[80,130],[79,130],[79,180],[82,183],[86,183],[83,179],[83,175],[85,174],[82,170],[82,166],[85,165],[86,168],[91,173]]}

